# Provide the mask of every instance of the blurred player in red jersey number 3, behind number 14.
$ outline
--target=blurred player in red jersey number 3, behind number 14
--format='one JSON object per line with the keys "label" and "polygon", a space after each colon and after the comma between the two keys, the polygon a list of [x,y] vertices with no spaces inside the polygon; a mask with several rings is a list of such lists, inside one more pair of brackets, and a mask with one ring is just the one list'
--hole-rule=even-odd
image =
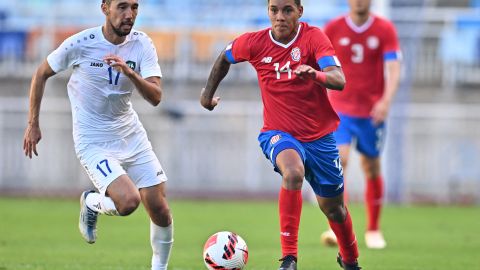
{"label": "blurred player in red jersey number 3, behind number 14", "polygon": [[[394,25],[370,12],[371,0],[348,3],[349,14],[325,27],[348,82],[341,93],[329,92],[340,116],[340,126],[334,135],[344,172],[352,139],[355,140],[366,178],[365,242],[368,248],[382,249],[386,242],[379,224],[384,193],[380,152],[385,121],[399,84],[401,53]],[[323,237],[331,238],[327,242],[335,241],[331,231]]]}

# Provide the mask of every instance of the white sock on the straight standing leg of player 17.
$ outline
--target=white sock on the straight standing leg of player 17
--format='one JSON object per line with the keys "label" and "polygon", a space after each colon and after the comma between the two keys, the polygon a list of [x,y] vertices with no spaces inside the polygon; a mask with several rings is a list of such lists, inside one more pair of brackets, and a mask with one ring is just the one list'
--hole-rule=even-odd
{"label": "white sock on the straight standing leg of player 17", "polygon": [[173,220],[168,227],[160,227],[150,221],[152,244],[152,270],[166,270],[173,245]]}

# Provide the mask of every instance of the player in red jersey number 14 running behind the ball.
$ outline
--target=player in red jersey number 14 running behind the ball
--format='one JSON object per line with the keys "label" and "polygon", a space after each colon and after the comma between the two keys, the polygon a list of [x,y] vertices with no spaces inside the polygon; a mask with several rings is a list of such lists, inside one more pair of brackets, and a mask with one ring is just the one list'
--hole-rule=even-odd
{"label": "player in red jersey number 14 running behind the ball", "polygon": [[200,103],[213,110],[220,100],[214,94],[230,65],[244,61],[252,64],[264,105],[264,126],[258,140],[265,156],[282,175],[279,269],[297,269],[304,177],[337,236],[338,263],[343,269],[360,269],[352,220],[343,203],[342,167],[332,135],[339,119],[326,90],[342,90],[345,78],[326,35],[299,22],[302,14],[300,0],[269,0],[271,28],[243,34],[226,47],[212,67]]}

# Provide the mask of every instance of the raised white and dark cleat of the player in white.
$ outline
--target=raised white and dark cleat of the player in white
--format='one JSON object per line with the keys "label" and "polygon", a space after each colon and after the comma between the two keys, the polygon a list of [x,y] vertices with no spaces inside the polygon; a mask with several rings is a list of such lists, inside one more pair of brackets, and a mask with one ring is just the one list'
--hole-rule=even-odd
{"label": "raised white and dark cleat of the player in white", "polygon": [[78,228],[80,229],[80,234],[89,244],[95,243],[97,240],[97,217],[98,213],[90,209],[85,199],[87,195],[95,192],[94,190],[87,190],[82,193],[80,196],[80,218],[78,221]]}

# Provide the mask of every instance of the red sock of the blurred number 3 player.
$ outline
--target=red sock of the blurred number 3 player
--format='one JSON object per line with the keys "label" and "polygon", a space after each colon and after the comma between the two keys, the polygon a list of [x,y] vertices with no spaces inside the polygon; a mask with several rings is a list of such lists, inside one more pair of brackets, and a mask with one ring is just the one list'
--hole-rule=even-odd
{"label": "red sock of the blurred number 3 player", "polygon": [[383,179],[367,179],[365,202],[367,208],[367,230],[377,231],[379,228],[380,211],[383,201]]}

